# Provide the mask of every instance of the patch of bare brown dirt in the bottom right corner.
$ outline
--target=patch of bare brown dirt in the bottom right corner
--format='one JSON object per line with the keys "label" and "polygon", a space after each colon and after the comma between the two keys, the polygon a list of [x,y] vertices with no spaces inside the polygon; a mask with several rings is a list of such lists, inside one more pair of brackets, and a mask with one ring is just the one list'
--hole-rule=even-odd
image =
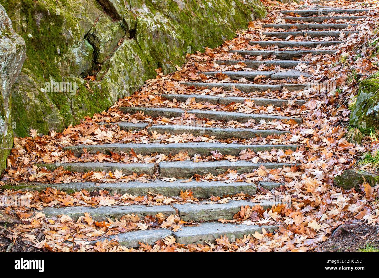
{"label": "patch of bare brown dirt in the bottom right corner", "polygon": [[358,226],[345,231],[335,238],[330,237],[315,251],[318,252],[359,252],[366,245],[379,248],[379,226]]}

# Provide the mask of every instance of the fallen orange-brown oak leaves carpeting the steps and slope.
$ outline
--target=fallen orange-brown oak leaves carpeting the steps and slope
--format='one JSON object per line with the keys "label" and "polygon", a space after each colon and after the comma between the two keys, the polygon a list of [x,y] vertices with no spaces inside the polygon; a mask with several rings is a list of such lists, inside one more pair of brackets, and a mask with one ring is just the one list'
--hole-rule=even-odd
{"label": "fallen orange-brown oak leaves carpeting the steps and slope", "polygon": [[[6,202],[9,196],[17,196],[18,199],[28,199],[27,207],[14,204],[3,207],[1,217],[13,217],[14,225],[4,228],[0,233],[3,238],[14,242],[14,246],[26,245],[27,248],[41,251],[175,251],[175,252],[209,252],[209,251],[275,251],[275,252],[305,252],[315,250],[318,245],[330,238],[332,231],[342,224],[377,225],[379,224],[379,205],[377,202],[378,186],[371,187],[368,183],[361,185],[362,191],[352,188],[349,191],[333,186],[333,179],[345,169],[354,168],[357,158],[364,152],[370,152],[376,148],[379,141],[366,137],[362,143],[351,143],[345,138],[349,120],[349,104],[354,101],[357,94],[356,84],[359,79],[365,79],[378,70],[377,57],[374,55],[370,42],[375,39],[374,27],[379,14],[376,12],[378,4],[374,1],[366,2],[366,7],[376,8],[376,11],[365,12],[370,15],[366,19],[358,20],[358,26],[352,26],[349,30],[359,30],[359,34],[350,34],[344,44],[338,45],[338,52],[334,56],[329,55],[305,55],[302,61],[309,64],[299,64],[296,70],[301,70],[312,75],[311,78],[300,76],[297,79],[271,80],[264,74],[258,75],[253,81],[231,80],[222,73],[215,76],[207,75],[207,71],[251,71],[242,62],[235,65],[217,64],[222,60],[263,60],[262,56],[249,57],[240,54],[229,53],[228,50],[260,50],[258,45],[250,45],[249,41],[270,40],[272,38],[263,35],[263,24],[284,23],[285,15],[280,10],[296,9],[301,5],[280,4],[279,2],[265,1],[268,7],[268,17],[249,23],[248,30],[240,31],[237,36],[225,42],[221,47],[207,48],[205,53],[187,54],[187,63],[182,67],[177,66],[175,73],[164,75],[157,70],[157,78],[146,81],[146,84],[135,94],[120,99],[107,112],[85,118],[77,126],[69,126],[61,133],[52,131],[50,135],[38,135],[35,130],[30,131],[30,137],[14,138],[14,148],[8,157],[8,168],[2,175],[1,184],[15,184],[25,182],[42,182],[46,186],[54,183],[68,182],[149,182],[162,179],[173,182],[175,178],[163,178],[158,175],[133,174],[124,175],[122,171],[90,171],[70,172],[58,167],[54,171],[38,167],[37,163],[67,163],[67,162],[118,162],[118,163],[159,163],[161,161],[186,161],[193,162],[229,160],[246,160],[254,163],[262,162],[286,162],[297,163],[297,166],[281,169],[265,169],[263,166],[250,173],[238,174],[235,170],[228,170],[219,175],[195,175],[184,182],[219,181],[224,183],[247,182],[257,184],[260,181],[282,182],[280,188],[268,191],[258,187],[254,196],[236,194],[234,196],[211,196],[207,203],[227,203],[230,200],[252,200],[263,202],[265,200],[285,199],[290,196],[290,205],[277,205],[267,210],[257,205],[255,207],[241,207],[241,211],[235,214],[233,220],[219,219],[220,222],[230,222],[236,225],[277,225],[279,230],[268,233],[263,229],[262,234],[246,235],[235,242],[229,241],[226,236],[216,239],[215,244],[189,244],[181,245],[175,242],[175,238],[168,237],[159,240],[150,246],[141,243],[139,248],[126,248],[114,240],[97,241],[100,236],[112,236],[133,230],[147,230],[157,228],[169,228],[180,230],[185,225],[197,225],[196,222],[185,222],[177,215],[139,217],[138,215],[124,215],[120,219],[97,222],[90,214],[85,213],[77,221],[69,216],[47,218],[40,210],[44,207],[70,207],[86,206],[101,207],[113,205],[170,205],[174,203],[198,203],[204,199],[194,196],[191,188],[182,191],[180,196],[166,197],[160,194],[149,193],[146,196],[133,196],[131,194],[110,194],[108,191],[99,190],[88,192],[81,190],[72,194],[47,187],[44,191],[15,191],[3,189],[0,200]],[[335,1],[323,3],[335,8],[361,8],[360,2]],[[332,14],[330,14],[332,15]],[[357,14],[357,16],[363,14]],[[342,14],[343,16],[343,14]],[[292,22],[287,22],[292,23]],[[302,23],[302,22],[293,22]],[[337,20],[324,23],[345,23]],[[348,23],[348,22],[346,22]],[[278,30],[276,30],[278,31]],[[280,30],[279,30],[280,31]],[[290,30],[296,31],[296,30]],[[287,37],[282,40],[307,40],[309,37]],[[346,39],[341,36],[337,40]],[[280,40],[280,39],[276,39]],[[314,38],[312,40],[330,41],[331,37]],[[282,50],[285,50],[283,48]],[[307,50],[307,48],[296,48]],[[316,47],[315,50],[328,50],[331,47]],[[277,50],[275,47],[265,50]],[[360,54],[359,56],[357,56]],[[266,59],[275,60],[273,55]],[[300,59],[300,58],[299,58]],[[258,71],[287,71],[288,69],[260,66]],[[351,78],[354,70],[359,78]],[[284,84],[307,83],[310,81],[324,82],[333,80],[337,83],[338,90],[326,92],[323,90],[299,90],[252,92],[244,93],[233,87],[231,91],[220,88],[198,89],[194,86],[184,86],[179,81],[210,82],[210,83],[251,83],[251,84]],[[89,81],[91,82],[91,81]],[[176,99],[165,98],[165,94],[184,95],[217,95],[245,97],[243,103],[231,103],[228,105],[211,104],[206,101],[196,102],[195,98],[189,98],[185,103]],[[249,98],[265,97],[272,99],[288,99],[288,104],[282,107],[259,106]],[[304,105],[296,105],[296,99],[306,99]],[[177,107],[186,112],[180,117],[156,117],[152,118],[138,112],[134,115],[123,113],[119,107]],[[213,111],[233,111],[246,114],[260,113],[278,116],[301,117],[303,123],[293,120],[288,121],[254,121],[246,123],[238,121],[215,121],[198,118],[191,113],[191,109],[207,109]],[[193,124],[202,123],[204,127],[249,127],[254,129],[287,130],[290,133],[283,135],[270,135],[266,138],[227,138],[217,139],[214,136],[194,136],[191,133],[172,135],[169,133],[149,134],[146,129],[139,131],[121,130],[117,123],[146,123],[153,124]],[[246,150],[238,156],[223,155],[218,151],[212,151],[208,156],[188,155],[182,151],[176,155],[136,154],[130,153],[89,154],[84,148],[80,157],[72,152],[64,150],[66,146],[78,144],[103,144],[103,143],[183,143],[186,142],[220,142],[245,144]],[[303,147],[296,151],[277,150],[265,152],[253,152],[249,149],[251,144],[299,144]],[[370,171],[370,165],[364,169]],[[9,199],[9,198],[8,198]],[[0,250],[6,245],[0,241]]]}

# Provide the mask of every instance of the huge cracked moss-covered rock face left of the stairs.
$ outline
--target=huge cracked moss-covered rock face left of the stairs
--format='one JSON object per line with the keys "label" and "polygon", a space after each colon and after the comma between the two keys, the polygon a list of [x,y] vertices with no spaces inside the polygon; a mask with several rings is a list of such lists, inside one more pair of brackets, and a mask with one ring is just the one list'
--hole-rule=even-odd
{"label": "huge cracked moss-covered rock face left of the stairs", "polygon": [[[101,112],[155,77],[155,68],[172,71],[186,53],[216,47],[266,13],[258,0],[0,3],[27,44],[12,92],[19,136],[30,129],[61,131]],[[85,79],[88,75],[95,78]],[[53,89],[67,82],[74,92]]]}

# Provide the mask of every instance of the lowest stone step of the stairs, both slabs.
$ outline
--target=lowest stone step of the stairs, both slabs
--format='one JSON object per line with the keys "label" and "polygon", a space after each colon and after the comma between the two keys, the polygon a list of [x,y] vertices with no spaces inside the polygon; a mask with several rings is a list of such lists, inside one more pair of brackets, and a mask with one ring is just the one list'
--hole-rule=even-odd
{"label": "lowest stone step of the stairs, both slabs", "polygon": [[[139,242],[153,245],[156,241],[164,239],[168,236],[174,236],[179,244],[205,244],[206,242],[215,243],[217,238],[226,235],[229,242],[234,242],[235,239],[243,238],[244,235],[262,233],[262,228],[266,232],[273,233],[278,229],[276,226],[258,226],[258,225],[236,225],[236,224],[222,224],[220,222],[205,222],[197,226],[185,226],[182,230],[173,232],[168,229],[157,230],[138,230],[130,231],[127,233],[120,233],[118,235],[102,237],[99,241],[105,239],[116,240],[120,245],[132,248],[139,247]],[[95,243],[93,241],[91,243]]]}

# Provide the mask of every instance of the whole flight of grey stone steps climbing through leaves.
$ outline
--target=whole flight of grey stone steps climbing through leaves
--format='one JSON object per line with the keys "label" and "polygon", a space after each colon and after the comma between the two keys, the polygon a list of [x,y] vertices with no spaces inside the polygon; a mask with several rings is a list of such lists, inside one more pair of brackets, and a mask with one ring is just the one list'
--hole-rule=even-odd
{"label": "whole flight of grey stone steps climbing through leaves", "polygon": [[[235,97],[223,95],[201,95],[201,94],[189,94],[189,95],[175,95],[166,94],[162,95],[164,98],[174,100],[178,103],[185,103],[188,98],[194,98],[196,102],[206,101],[210,104],[231,104],[231,103],[243,103],[248,98],[254,101],[255,105],[267,106],[272,105],[274,107],[285,107],[290,102],[291,105],[302,106],[307,99],[277,99],[277,98],[262,98],[259,97],[258,92],[264,92],[266,90],[272,91],[296,91],[302,90],[307,85],[306,83],[292,82],[294,79],[298,79],[300,76],[304,78],[312,79],[312,75],[299,70],[294,70],[299,64],[310,64],[311,61],[302,61],[302,57],[305,55],[332,55],[338,49],[338,45],[343,43],[345,36],[350,33],[358,33],[358,31],[351,31],[350,29],[357,26],[357,20],[363,18],[363,16],[354,16],[354,14],[362,13],[366,10],[354,10],[354,9],[309,9],[298,11],[282,11],[288,24],[266,24],[263,27],[266,29],[263,32],[265,39],[260,41],[252,41],[250,45],[258,46],[259,50],[230,50],[230,53],[237,53],[242,56],[243,59],[238,60],[219,60],[219,65],[236,65],[243,62],[247,67],[257,69],[260,65],[272,65],[280,66],[281,68],[289,69],[287,71],[206,71],[207,76],[215,76],[218,73],[223,73],[231,80],[240,80],[244,78],[243,82],[227,83],[227,82],[181,82],[183,86],[195,88],[200,90],[204,88],[222,88],[223,90],[231,91],[238,89],[244,93],[246,97]],[[334,12],[337,16],[328,16],[329,12]],[[293,17],[294,14],[300,17]],[[351,16],[338,16],[338,14],[349,14]],[[338,23],[338,20],[349,20],[349,23]],[[337,22],[337,23],[322,23],[322,22]],[[351,22],[351,24],[350,24]],[[297,28],[297,31],[288,31]],[[314,31],[315,30],[315,31]],[[323,31],[325,30],[325,31]],[[330,31],[332,30],[332,31]],[[343,33],[345,36],[341,36]],[[304,36],[304,40],[294,40],[295,37]],[[333,37],[332,41],[312,40],[323,37]],[[340,38],[342,37],[342,38]],[[286,40],[287,38],[287,40]],[[266,40],[268,39],[268,40]],[[279,50],[272,50],[272,47],[278,47]],[[297,50],[296,48],[308,48],[307,50]],[[319,47],[328,47],[327,50],[315,49]],[[266,50],[265,50],[266,48]],[[280,50],[286,48],[285,50]],[[290,48],[288,50],[288,48]],[[276,59],[271,60],[275,55]],[[256,61],[251,60],[249,57],[262,56],[264,60]],[[233,56],[234,57],[234,56]],[[258,75],[264,75],[262,84],[253,84]],[[288,79],[288,80],[287,80]],[[268,84],[270,81],[283,81],[281,83]],[[180,117],[183,113],[193,113],[197,118],[205,118],[215,121],[237,121],[239,123],[245,123],[247,121],[255,120],[260,121],[291,121],[293,124],[301,124],[303,119],[301,115],[291,116],[278,116],[270,114],[259,113],[241,113],[241,112],[226,112],[219,110],[207,110],[207,109],[194,109],[184,110],[173,107],[133,107],[125,106],[120,108],[124,113],[135,114],[137,112],[144,112],[144,115],[155,117]],[[304,119],[306,120],[306,119]],[[147,123],[128,123],[119,122],[111,123],[117,124],[123,130],[143,130],[146,129],[148,133],[158,132],[164,134],[164,132],[171,134],[182,134],[190,132],[195,136],[214,136],[216,139],[225,138],[255,138],[255,137],[268,137],[268,136],[285,136],[291,134],[290,131],[280,130],[262,130],[252,128],[225,128],[225,127],[201,127],[200,129],[193,129],[191,126],[182,126],[177,128],[174,125],[164,124],[152,124]],[[178,154],[180,151],[187,151],[189,155],[209,155],[211,151],[218,151],[226,155],[238,155],[242,150],[250,149],[254,152],[258,151],[270,151],[273,148],[285,150],[293,150],[304,147],[298,144],[257,144],[257,145],[243,145],[238,143],[150,143],[150,144],[137,144],[137,143],[112,143],[103,145],[78,145],[66,147],[67,150],[72,151],[76,156],[83,154],[83,148],[89,153],[96,154],[101,152],[109,154],[110,152],[128,153],[132,150],[136,154],[152,154],[160,153],[165,155]],[[60,183],[54,186],[57,189],[64,190],[67,193],[80,191],[86,189],[88,191],[106,189],[112,193],[129,193],[133,195],[143,196],[147,192],[156,194],[162,194],[164,196],[179,196],[180,191],[191,189],[194,196],[198,198],[209,198],[210,196],[224,196],[238,193],[245,193],[254,195],[257,192],[257,186],[266,190],[276,188],[283,183],[275,182],[260,182],[257,184],[247,182],[186,182],[183,180],[194,175],[206,175],[211,173],[212,175],[218,175],[226,172],[228,169],[236,170],[238,173],[252,172],[254,169],[258,169],[260,166],[265,166],[267,169],[278,169],[283,167],[296,166],[293,163],[252,163],[244,160],[238,160],[232,162],[229,160],[209,161],[209,162],[193,162],[193,161],[177,161],[177,162],[160,162],[160,163],[109,163],[109,162],[83,162],[83,163],[41,163],[39,167],[46,167],[49,170],[56,169],[59,166],[63,166],[64,169],[73,172],[87,172],[87,171],[116,171],[122,170],[123,174],[148,174],[156,175],[157,179],[152,182],[128,182],[128,183],[92,183],[92,182],[75,182],[75,183]],[[160,180],[163,177],[175,177],[177,180],[174,182],[164,182]],[[39,190],[46,187],[42,183],[28,184],[27,187],[33,190]],[[25,186],[14,186],[14,188],[25,188]],[[258,226],[258,225],[236,225],[236,224],[223,224],[217,222],[218,219],[233,219],[233,215],[237,213],[241,206],[249,205],[262,205],[264,208],[270,208],[276,203],[254,203],[248,200],[232,200],[228,203],[186,203],[186,204],[174,204],[170,205],[157,205],[157,206],[145,206],[145,205],[130,205],[130,206],[113,206],[113,207],[64,207],[64,208],[45,208],[44,213],[48,217],[57,216],[60,214],[66,214],[76,220],[83,213],[89,212],[96,221],[106,221],[106,217],[119,219],[124,214],[138,214],[143,217],[146,215],[155,215],[162,213],[165,216],[170,214],[177,214],[183,221],[199,222],[199,225],[184,226],[182,230],[171,231],[168,229],[158,230],[138,230],[126,233],[120,233],[119,235],[104,237],[102,239],[117,239],[117,241],[127,247],[137,247],[138,242],[146,242],[153,244],[155,241],[167,236],[173,236],[176,242],[180,244],[197,244],[204,242],[213,242],[220,236],[227,235],[229,239],[242,238],[244,235],[254,234],[255,232],[261,233],[262,228],[266,231],[274,232],[277,227],[274,226]]]}

